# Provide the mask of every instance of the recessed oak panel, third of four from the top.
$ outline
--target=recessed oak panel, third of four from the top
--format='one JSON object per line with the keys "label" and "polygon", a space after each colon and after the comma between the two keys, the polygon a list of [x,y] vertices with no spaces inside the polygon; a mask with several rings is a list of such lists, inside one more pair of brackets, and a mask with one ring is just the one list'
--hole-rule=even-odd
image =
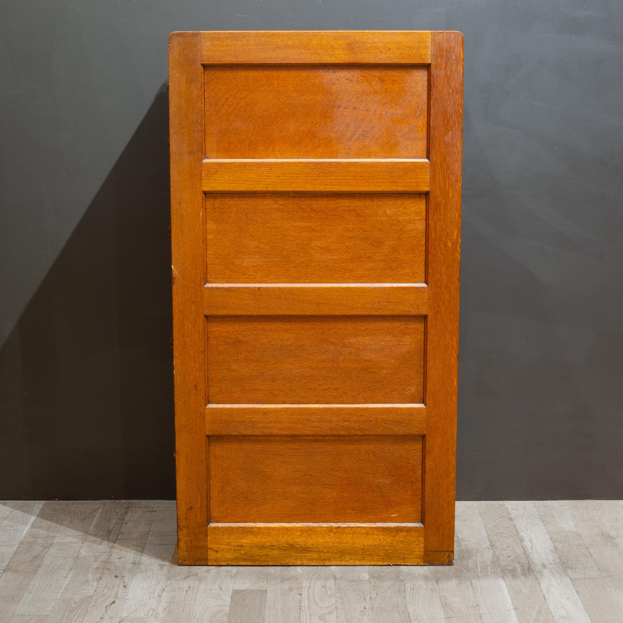
{"label": "recessed oak panel, third of four from the top", "polygon": [[421,316],[211,316],[208,401],[422,402]]}

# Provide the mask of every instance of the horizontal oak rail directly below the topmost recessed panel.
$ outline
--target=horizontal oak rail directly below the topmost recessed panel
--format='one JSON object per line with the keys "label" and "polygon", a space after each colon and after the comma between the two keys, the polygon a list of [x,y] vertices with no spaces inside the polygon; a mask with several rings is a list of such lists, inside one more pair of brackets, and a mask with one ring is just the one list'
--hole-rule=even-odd
{"label": "horizontal oak rail directly below the topmost recessed panel", "polygon": [[430,162],[414,159],[204,159],[204,193],[427,193]]}

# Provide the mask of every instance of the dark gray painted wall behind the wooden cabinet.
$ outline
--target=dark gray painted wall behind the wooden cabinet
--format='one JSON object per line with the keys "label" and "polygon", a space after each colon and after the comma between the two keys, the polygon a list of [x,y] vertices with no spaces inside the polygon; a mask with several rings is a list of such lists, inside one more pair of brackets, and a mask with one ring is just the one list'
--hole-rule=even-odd
{"label": "dark gray painted wall behind the wooden cabinet", "polygon": [[457,497],[623,497],[621,0],[4,0],[0,498],[174,497],[166,37],[465,34]]}

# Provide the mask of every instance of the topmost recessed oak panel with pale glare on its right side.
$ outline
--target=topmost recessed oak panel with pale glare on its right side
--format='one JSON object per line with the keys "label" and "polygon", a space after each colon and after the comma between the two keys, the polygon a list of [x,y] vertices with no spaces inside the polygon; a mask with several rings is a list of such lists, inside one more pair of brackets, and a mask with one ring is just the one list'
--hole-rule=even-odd
{"label": "topmost recessed oak panel with pale glare on its right side", "polygon": [[207,158],[426,158],[427,67],[204,71]]}

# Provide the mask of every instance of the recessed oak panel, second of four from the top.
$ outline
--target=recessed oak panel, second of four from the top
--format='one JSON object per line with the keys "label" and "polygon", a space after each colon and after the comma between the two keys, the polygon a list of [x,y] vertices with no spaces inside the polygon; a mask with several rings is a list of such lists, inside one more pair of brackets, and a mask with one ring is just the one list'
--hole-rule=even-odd
{"label": "recessed oak panel, second of four from the top", "polygon": [[424,281],[423,194],[209,194],[209,283]]}

